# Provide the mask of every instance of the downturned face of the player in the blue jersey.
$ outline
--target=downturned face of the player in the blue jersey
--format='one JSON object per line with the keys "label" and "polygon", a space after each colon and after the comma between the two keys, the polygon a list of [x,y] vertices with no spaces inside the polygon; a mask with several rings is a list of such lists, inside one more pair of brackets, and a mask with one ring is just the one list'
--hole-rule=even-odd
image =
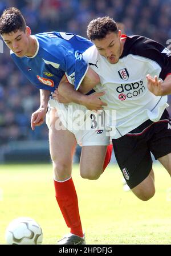
{"label": "downturned face of the player in the blue jersey", "polygon": [[17,32],[10,32],[3,34],[2,38],[7,47],[10,48],[18,57],[23,57],[27,54],[29,48],[29,35],[30,28],[26,28],[25,31],[18,30]]}

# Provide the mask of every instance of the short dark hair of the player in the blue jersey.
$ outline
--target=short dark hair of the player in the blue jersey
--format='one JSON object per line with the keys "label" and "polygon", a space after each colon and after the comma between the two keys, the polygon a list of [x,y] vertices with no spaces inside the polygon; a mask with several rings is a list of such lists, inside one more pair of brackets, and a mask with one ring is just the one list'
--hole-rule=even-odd
{"label": "short dark hair of the player in the blue jersey", "polygon": [[0,34],[9,34],[18,30],[26,30],[26,22],[21,11],[15,7],[4,10],[0,18]]}

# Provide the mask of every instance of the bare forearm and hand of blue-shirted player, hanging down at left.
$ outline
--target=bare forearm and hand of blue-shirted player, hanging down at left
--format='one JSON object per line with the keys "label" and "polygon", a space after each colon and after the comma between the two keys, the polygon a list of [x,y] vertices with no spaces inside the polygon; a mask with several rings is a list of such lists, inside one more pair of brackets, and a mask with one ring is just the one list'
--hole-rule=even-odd
{"label": "bare forearm and hand of blue-shirted player, hanging down at left", "polygon": [[40,89],[40,107],[31,115],[32,131],[34,131],[35,126],[40,126],[44,123],[50,93],[50,91]]}

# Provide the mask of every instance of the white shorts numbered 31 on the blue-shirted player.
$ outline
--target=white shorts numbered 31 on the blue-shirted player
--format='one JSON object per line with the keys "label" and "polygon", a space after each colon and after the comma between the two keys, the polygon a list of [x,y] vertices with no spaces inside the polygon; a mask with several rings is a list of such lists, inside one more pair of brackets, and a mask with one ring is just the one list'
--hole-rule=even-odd
{"label": "white shorts numbered 31 on the blue-shirted player", "polygon": [[[48,101],[46,124],[50,127],[50,111],[56,109],[60,121],[55,123],[56,129],[64,128],[72,132],[80,146],[109,145],[109,131],[105,128],[104,111],[99,114],[89,111],[83,105],[76,103],[62,104],[57,100]],[[60,123],[61,122],[61,123]]]}

